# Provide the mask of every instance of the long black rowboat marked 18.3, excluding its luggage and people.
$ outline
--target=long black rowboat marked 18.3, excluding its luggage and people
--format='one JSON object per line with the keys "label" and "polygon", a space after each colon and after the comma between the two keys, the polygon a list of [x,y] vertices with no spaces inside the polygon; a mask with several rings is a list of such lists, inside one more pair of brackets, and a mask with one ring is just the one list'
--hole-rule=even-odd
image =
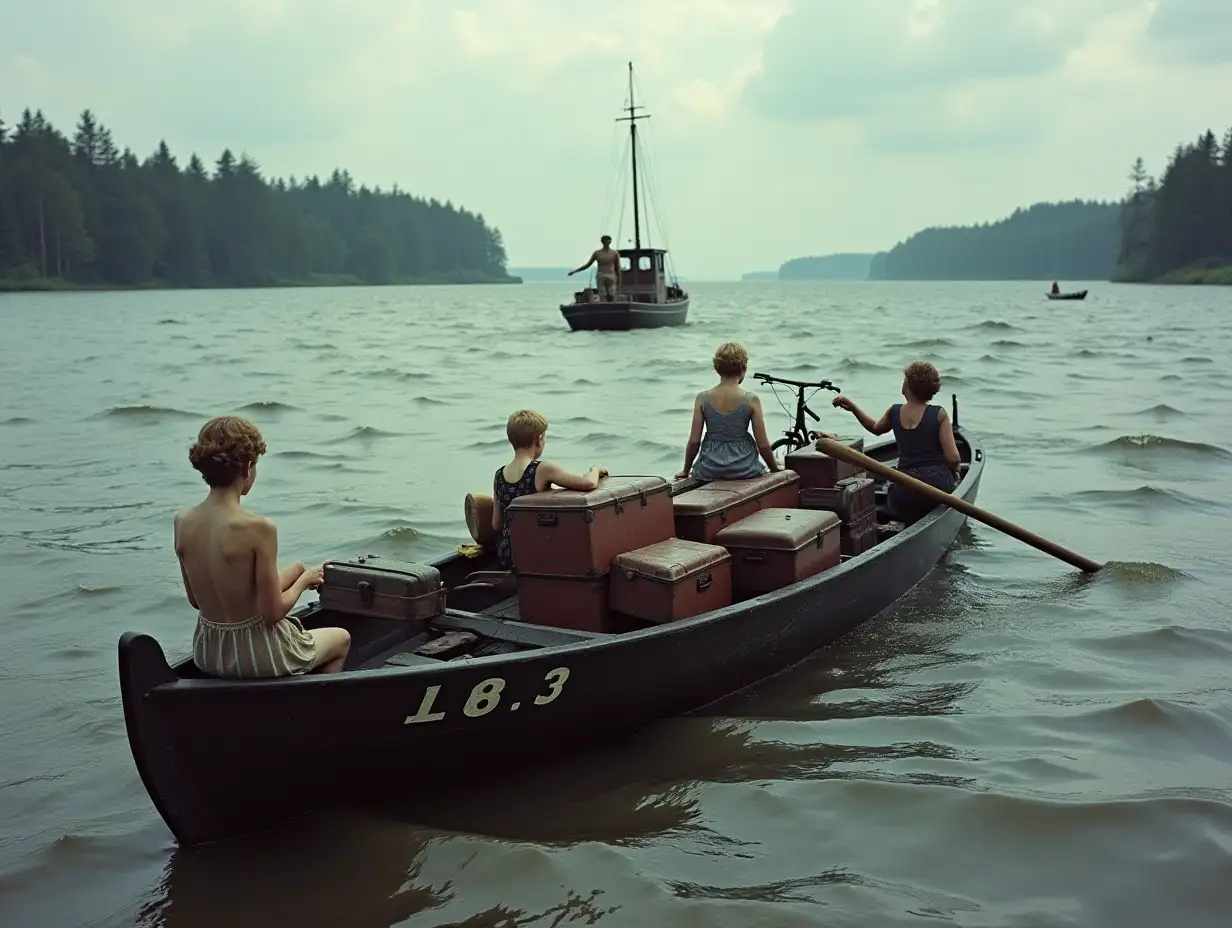
{"label": "long black rowboat marked 18.3, excluding its luggage and people", "polygon": [[[955,431],[968,462],[955,494],[975,503],[983,450],[967,430]],[[867,454],[886,463],[897,457],[893,441]],[[965,521],[938,508],[790,587],[620,633],[520,622],[508,590],[467,584],[489,564],[455,553],[436,562],[450,609],[428,625],[319,603],[297,611],[307,627],[351,632],[347,667],[335,674],[212,679],[191,657],[169,663],[153,637],[126,632],[118,658],[129,746],[181,845],[267,828],[378,789],[405,794],[472,780],[482,789],[515,764],[610,742],[803,661],[919,583]],[[477,643],[451,659],[415,654],[446,630],[473,632]]]}

